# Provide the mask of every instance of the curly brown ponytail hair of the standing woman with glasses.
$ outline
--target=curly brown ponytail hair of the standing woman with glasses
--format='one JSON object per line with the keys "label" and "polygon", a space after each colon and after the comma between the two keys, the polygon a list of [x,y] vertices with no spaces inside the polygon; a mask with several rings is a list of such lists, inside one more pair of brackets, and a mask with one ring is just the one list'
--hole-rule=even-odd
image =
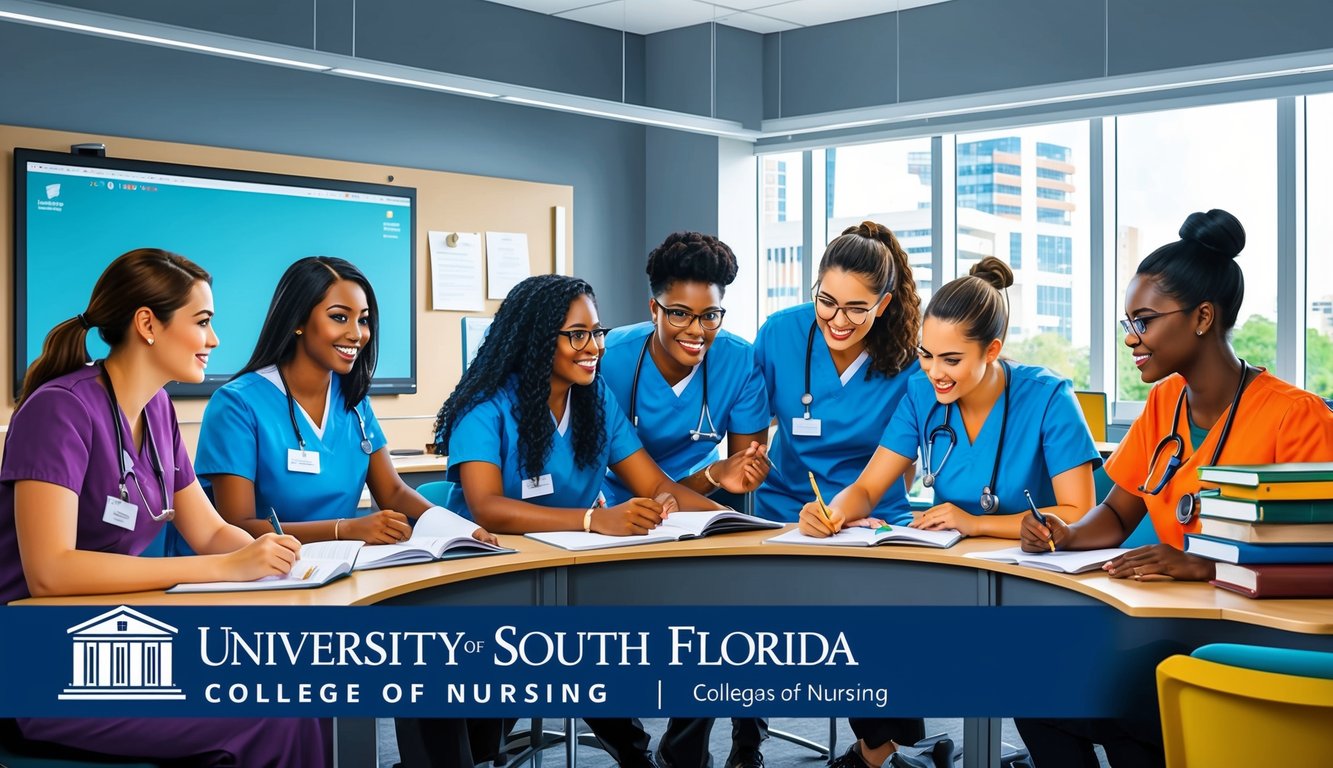
{"label": "curly brown ponytail hair of the standing woman with glasses", "polygon": [[865,375],[897,376],[917,359],[921,331],[921,296],[916,292],[908,252],[888,227],[861,221],[829,243],[820,259],[820,279],[834,268],[860,275],[881,296],[893,295],[889,308],[865,337],[870,353]]}

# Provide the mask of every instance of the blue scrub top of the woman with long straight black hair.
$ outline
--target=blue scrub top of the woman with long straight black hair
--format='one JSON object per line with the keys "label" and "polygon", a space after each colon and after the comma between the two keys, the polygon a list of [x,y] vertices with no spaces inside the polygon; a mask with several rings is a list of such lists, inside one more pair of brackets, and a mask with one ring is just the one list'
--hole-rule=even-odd
{"label": "blue scrub top of the woman with long straight black hair", "polygon": [[236,475],[252,481],[259,517],[264,517],[269,507],[277,511],[279,520],[295,523],[356,516],[371,467],[371,457],[361,451],[356,415],[365,421],[372,452],[387,443],[368,399],[361,400],[353,413],[343,400],[337,375],[329,381],[329,389],[324,437],[319,437],[309,419],[296,409],[305,449],[320,455],[319,475],[287,468],[288,449],[300,447],[292,432],[287,395],[255,372],[228,381],[208,400],[195,471],[200,477]]}

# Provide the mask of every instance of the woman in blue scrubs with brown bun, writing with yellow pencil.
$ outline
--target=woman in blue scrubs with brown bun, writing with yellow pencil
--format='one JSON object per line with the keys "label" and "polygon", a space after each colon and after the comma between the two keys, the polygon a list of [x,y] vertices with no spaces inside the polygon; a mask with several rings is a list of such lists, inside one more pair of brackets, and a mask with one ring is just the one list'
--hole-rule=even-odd
{"label": "woman in blue scrubs with brown bun, writing with yellow pencil", "polygon": [[[880,497],[921,457],[934,507],[914,528],[1017,539],[1028,501],[1074,519],[1092,508],[1092,472],[1101,463],[1069,381],[1001,357],[1009,312],[1002,291],[1013,272],[993,256],[940,288],[921,327],[921,372],[912,376],[874,457],[828,503],[801,509],[801,532],[830,536],[845,525],[878,525]],[[857,744],[836,768],[924,765],[897,752],[897,737],[921,721],[852,719]],[[908,725],[912,725],[908,728]],[[920,736],[917,736],[920,737]],[[948,741],[948,740],[945,740]],[[952,744],[937,744],[937,765],[952,765]]]}

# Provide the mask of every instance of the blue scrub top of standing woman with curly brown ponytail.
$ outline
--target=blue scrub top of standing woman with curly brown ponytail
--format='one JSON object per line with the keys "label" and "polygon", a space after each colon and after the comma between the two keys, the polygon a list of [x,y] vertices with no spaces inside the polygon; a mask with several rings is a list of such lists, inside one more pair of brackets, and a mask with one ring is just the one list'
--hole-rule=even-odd
{"label": "blue scrub top of standing woman with curly brown ponytail", "polygon": [[[877,320],[882,321],[882,319]],[[769,408],[777,416],[773,440],[773,468],[754,492],[754,513],[769,520],[793,523],[801,507],[814,500],[806,472],[814,472],[825,501],[856,481],[869,464],[888,427],[908,379],[921,365],[913,361],[897,376],[872,373],[862,367],[842,384],[824,333],[814,331],[810,352],[810,419],[821,420],[818,437],[792,433],[792,419],[801,419],[805,407],[805,343],[814,323],[814,304],[801,304],[770,315],[754,340],[754,359],[768,385]],[[869,360],[865,363],[868,367]],[[906,489],[894,483],[872,512],[892,524],[912,520]]]}

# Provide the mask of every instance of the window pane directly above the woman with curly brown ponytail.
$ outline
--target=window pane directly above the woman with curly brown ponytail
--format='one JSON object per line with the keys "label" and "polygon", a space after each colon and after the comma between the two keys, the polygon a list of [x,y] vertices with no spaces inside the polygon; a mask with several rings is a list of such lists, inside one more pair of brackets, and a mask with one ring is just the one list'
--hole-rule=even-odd
{"label": "window pane directly above the woman with curly brown ponytail", "polygon": [[930,140],[838,147],[826,156],[829,239],[865,220],[892,229],[924,305],[933,288]]}

